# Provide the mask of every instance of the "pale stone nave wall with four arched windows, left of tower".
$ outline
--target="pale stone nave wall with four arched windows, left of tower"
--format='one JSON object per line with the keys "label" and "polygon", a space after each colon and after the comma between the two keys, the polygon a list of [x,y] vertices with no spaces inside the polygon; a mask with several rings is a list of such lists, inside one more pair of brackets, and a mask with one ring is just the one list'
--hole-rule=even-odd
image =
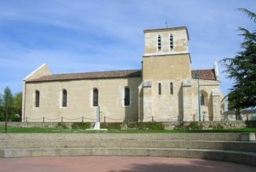
{"label": "pale stone nave wall with four arched windows, left of tower", "polygon": [[[99,90],[99,106],[101,117],[112,119],[112,122],[137,121],[138,120],[138,86],[140,77],[101,80],[67,80],[54,82],[27,82],[25,116],[35,121],[72,122],[94,121],[96,119],[96,107],[93,107],[93,88]],[[124,106],[124,87],[129,87],[131,105]],[[65,89],[68,92],[68,105],[61,107],[61,94]],[[35,90],[40,91],[40,107],[35,108]],[[29,121],[28,118],[28,121]],[[77,119],[77,120],[76,120]]]}

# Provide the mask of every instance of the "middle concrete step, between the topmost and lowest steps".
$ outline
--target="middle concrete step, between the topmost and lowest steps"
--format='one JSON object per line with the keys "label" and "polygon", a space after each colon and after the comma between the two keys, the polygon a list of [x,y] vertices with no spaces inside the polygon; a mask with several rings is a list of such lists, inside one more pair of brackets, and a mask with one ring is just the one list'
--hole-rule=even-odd
{"label": "middle concrete step, between the topmost and lowest steps", "polygon": [[193,148],[256,153],[256,142],[205,140],[1,140],[5,148]]}

